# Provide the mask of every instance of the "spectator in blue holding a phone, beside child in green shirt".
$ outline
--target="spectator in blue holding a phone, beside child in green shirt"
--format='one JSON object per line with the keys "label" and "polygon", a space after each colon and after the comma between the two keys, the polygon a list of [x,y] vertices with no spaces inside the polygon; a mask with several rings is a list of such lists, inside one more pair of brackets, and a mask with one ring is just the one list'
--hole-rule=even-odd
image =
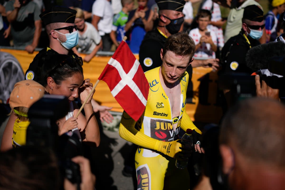
{"label": "spectator in blue holding a phone, beside child in green shirt", "polygon": [[146,32],[152,30],[153,11],[148,9],[148,0],[138,0],[139,7],[130,12],[128,22],[126,23],[126,32],[131,30],[130,49],[133,53],[138,54]]}

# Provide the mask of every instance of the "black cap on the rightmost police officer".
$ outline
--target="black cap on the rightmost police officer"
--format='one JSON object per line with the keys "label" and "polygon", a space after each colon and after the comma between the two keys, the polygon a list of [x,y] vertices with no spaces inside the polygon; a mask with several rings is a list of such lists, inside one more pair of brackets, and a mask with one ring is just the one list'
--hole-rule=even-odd
{"label": "black cap on the rightmost police officer", "polygon": [[263,11],[257,5],[249,5],[243,11],[243,19],[250,21],[262,22]]}

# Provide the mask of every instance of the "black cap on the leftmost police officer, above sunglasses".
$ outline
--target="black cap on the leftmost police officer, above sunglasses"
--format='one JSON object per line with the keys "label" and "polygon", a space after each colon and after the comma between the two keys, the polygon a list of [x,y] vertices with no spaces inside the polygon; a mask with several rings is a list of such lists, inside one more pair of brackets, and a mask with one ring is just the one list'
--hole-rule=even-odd
{"label": "black cap on the leftmost police officer, above sunglasses", "polygon": [[40,14],[44,25],[50,23],[74,23],[77,11],[68,7],[52,7]]}

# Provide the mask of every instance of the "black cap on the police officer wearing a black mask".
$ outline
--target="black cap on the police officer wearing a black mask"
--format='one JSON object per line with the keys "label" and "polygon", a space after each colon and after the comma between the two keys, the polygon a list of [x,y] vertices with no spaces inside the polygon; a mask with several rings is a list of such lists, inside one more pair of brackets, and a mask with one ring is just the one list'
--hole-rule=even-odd
{"label": "black cap on the police officer wearing a black mask", "polygon": [[159,10],[173,10],[182,12],[186,1],[184,0],[155,0]]}

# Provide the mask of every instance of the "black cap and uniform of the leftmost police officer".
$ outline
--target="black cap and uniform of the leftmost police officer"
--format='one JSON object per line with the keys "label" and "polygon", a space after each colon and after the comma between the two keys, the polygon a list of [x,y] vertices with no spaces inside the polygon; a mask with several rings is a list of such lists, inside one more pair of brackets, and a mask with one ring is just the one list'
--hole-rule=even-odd
{"label": "black cap and uniform of the leftmost police officer", "polygon": [[[43,24],[46,26],[50,23],[73,23],[75,21],[76,11],[67,7],[52,7],[40,14]],[[56,29],[56,28],[55,28]],[[61,45],[60,45],[61,46]],[[52,56],[58,52],[47,47],[38,52],[25,74],[25,79],[34,81],[40,80],[41,67],[46,56]],[[78,57],[72,50],[69,50],[68,55],[75,58]]]}

